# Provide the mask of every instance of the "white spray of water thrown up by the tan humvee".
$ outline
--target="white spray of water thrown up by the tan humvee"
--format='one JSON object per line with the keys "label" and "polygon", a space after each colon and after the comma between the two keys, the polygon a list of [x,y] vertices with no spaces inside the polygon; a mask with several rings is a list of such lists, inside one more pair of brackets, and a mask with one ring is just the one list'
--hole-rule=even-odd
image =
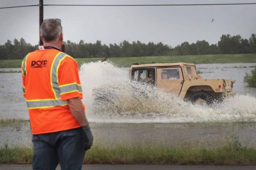
{"label": "white spray of water thrown up by the tan humvee", "polygon": [[[197,106],[161,89],[132,82],[128,69],[109,62],[90,62],[80,69],[83,102],[91,122],[182,123],[256,120],[256,98],[237,95],[213,107]],[[96,90],[95,90],[96,89]],[[98,89],[98,90],[97,90]],[[111,91],[108,91],[111,89]],[[94,91],[94,93],[93,93]],[[100,92],[107,101],[97,101]]]}

